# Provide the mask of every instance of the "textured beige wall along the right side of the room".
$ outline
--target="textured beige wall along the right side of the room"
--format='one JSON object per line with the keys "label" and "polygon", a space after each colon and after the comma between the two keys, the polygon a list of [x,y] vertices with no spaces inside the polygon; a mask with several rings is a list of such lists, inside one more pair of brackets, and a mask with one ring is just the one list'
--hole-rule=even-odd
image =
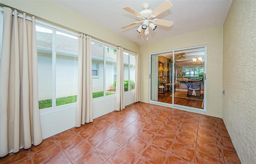
{"label": "textured beige wall along the right side of the room", "polygon": [[223,28],[223,120],[244,164],[256,163],[256,1],[233,0]]}

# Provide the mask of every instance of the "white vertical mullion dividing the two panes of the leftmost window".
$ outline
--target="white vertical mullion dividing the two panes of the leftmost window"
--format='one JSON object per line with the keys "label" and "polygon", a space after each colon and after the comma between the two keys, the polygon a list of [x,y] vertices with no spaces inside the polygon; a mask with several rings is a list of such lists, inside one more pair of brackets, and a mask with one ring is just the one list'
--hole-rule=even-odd
{"label": "white vertical mullion dividing the two panes of the leftmost window", "polygon": [[52,107],[56,107],[56,30],[52,30]]}

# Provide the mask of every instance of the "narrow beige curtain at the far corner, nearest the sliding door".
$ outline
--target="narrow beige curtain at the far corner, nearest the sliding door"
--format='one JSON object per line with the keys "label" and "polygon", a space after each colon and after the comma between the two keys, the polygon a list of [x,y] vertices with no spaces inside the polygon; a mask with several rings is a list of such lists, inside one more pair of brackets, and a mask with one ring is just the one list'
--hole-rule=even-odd
{"label": "narrow beige curtain at the far corner, nearest the sliding door", "polygon": [[140,101],[140,53],[137,53],[135,63],[135,89],[134,89],[134,103]]}

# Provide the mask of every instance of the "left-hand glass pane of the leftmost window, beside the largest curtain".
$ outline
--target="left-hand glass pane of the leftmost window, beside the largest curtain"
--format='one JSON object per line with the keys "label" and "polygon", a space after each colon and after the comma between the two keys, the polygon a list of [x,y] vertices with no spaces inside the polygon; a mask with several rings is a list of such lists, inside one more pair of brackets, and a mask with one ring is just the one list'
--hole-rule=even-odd
{"label": "left-hand glass pane of the leftmost window, beside the largest curtain", "polygon": [[52,30],[36,26],[39,109],[52,107]]}

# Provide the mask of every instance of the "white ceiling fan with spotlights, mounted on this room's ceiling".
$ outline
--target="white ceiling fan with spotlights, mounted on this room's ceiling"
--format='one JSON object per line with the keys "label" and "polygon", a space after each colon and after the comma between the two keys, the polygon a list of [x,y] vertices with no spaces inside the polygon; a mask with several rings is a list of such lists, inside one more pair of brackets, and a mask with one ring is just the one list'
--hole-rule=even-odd
{"label": "white ceiling fan with spotlights, mounted on this room's ceiling", "polygon": [[137,12],[136,10],[130,8],[130,7],[124,7],[123,9],[130,12],[131,14],[137,16],[139,18],[140,21],[138,22],[133,22],[131,24],[128,24],[126,26],[122,26],[121,28],[127,28],[130,26],[133,26],[135,24],[139,24],[142,23],[142,25],[139,26],[139,28],[137,29],[137,32],[141,33],[142,30],[144,30],[144,34],[147,35],[149,34],[148,31],[148,27],[150,27],[152,30],[156,29],[156,25],[161,25],[161,26],[166,26],[166,27],[170,27],[172,26],[173,22],[172,21],[168,21],[168,20],[161,20],[161,19],[154,19],[156,16],[158,16],[159,14],[165,12],[166,10],[168,10],[169,8],[172,7],[172,3],[168,0],[166,0],[164,3],[160,4],[160,6],[158,6],[155,10],[150,10],[149,8],[149,4],[143,4],[143,9],[140,12]]}

